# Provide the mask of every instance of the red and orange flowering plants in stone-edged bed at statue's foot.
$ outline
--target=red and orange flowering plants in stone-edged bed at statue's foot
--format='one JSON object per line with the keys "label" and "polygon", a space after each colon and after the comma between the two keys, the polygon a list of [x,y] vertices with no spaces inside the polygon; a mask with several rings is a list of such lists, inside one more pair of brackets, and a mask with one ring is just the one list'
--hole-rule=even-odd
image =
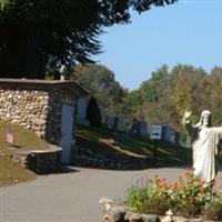
{"label": "red and orange flowering plants in stone-edged bed at statue's foot", "polygon": [[127,203],[142,213],[164,214],[171,209],[174,214],[195,218],[203,215],[212,203],[222,209],[222,192],[213,193],[212,189],[213,183],[205,183],[188,170],[173,183],[155,175],[142,188],[132,186]]}

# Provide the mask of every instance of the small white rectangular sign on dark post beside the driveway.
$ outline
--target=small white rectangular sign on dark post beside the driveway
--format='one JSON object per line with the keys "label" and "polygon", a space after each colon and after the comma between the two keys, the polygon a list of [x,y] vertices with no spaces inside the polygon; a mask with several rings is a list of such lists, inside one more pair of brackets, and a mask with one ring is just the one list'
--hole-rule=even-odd
{"label": "small white rectangular sign on dark post beside the driveway", "polygon": [[154,141],[154,149],[153,149],[153,162],[154,164],[158,163],[158,140],[161,140],[162,134],[162,127],[161,125],[152,125],[150,139]]}

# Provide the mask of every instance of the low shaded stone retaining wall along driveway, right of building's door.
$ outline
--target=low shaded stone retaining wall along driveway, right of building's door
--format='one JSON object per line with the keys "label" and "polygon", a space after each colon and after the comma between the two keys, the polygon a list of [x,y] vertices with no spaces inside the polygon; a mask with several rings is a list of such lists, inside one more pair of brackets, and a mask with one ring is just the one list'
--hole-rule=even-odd
{"label": "low shaded stone retaining wall along driveway, right of building's door", "polygon": [[[113,144],[117,143],[113,140],[111,141]],[[141,170],[153,165],[153,160],[147,157],[129,155],[114,149],[109,149],[105,143],[77,137],[77,143],[72,148],[71,163],[72,165],[84,168]]]}

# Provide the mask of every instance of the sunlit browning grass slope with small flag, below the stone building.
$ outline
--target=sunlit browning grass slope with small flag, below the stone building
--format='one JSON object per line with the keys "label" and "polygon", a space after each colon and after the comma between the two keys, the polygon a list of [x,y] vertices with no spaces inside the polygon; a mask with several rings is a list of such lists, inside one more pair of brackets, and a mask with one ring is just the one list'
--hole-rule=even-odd
{"label": "sunlit browning grass slope with small flag, below the stone building", "polygon": [[[6,132],[11,131],[13,143],[8,143]],[[34,179],[36,174],[12,161],[13,150],[44,150],[48,143],[33,132],[0,120],[0,186]]]}

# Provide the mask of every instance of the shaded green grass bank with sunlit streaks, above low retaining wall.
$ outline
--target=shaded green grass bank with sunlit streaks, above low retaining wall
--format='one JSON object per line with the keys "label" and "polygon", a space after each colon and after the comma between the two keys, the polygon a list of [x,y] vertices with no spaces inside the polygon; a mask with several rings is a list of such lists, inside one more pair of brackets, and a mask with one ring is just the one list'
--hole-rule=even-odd
{"label": "shaded green grass bank with sunlit streaks, above low retaining wall", "polygon": [[[117,139],[108,128],[78,127],[77,139],[80,145],[91,149],[103,149],[103,152],[119,152],[128,155],[142,155],[153,159],[154,142],[141,137],[129,135],[127,139]],[[83,142],[84,141],[84,142]],[[93,143],[93,144],[92,144]],[[158,165],[181,165],[191,163],[191,150],[175,147],[170,143],[158,142]]]}

